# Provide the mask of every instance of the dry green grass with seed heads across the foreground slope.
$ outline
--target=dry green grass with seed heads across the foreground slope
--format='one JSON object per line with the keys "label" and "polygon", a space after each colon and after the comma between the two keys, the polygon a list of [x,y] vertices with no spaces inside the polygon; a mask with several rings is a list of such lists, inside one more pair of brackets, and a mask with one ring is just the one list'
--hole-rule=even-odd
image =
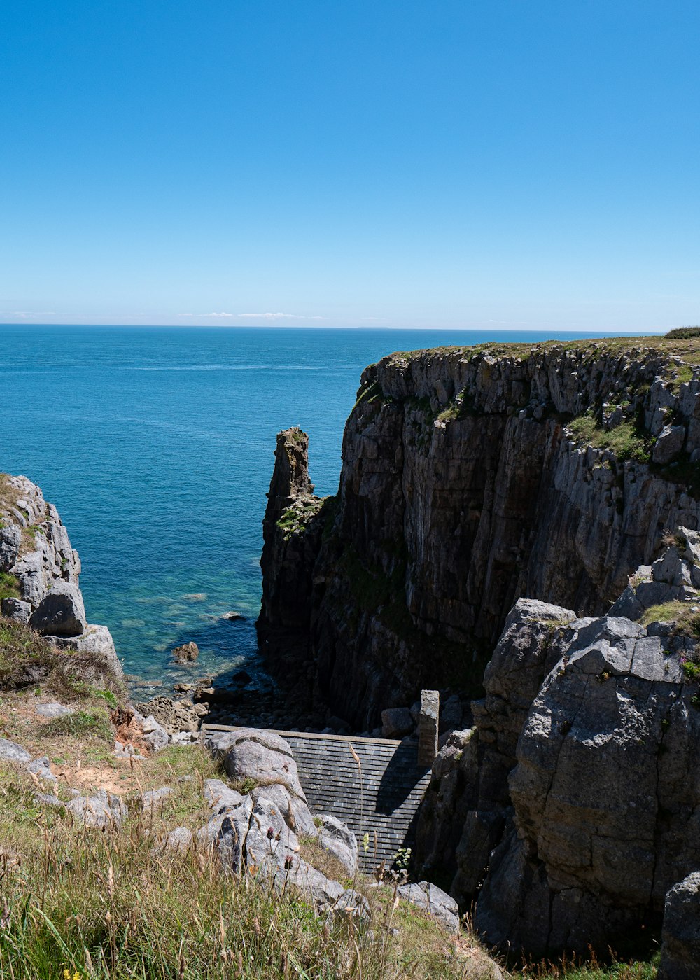
{"label": "dry green grass with seed heads across the foreground slope", "polygon": [[[65,969],[80,980],[489,975],[475,939],[458,943],[420,909],[395,904],[391,887],[368,889],[371,928],[329,920],[292,887],[278,894],[262,873],[223,873],[204,846],[162,856],[159,842],[183,819],[173,798],[157,814],[131,811],[121,831],[86,831],[59,809],[41,816],[25,774],[0,768],[2,977],[62,980]],[[185,805],[186,794],[192,806],[201,801],[199,783],[175,785]]]}

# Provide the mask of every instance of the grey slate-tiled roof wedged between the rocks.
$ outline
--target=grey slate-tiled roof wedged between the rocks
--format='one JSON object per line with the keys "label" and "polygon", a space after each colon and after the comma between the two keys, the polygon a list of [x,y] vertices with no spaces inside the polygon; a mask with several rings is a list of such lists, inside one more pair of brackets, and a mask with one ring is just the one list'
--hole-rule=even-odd
{"label": "grey slate-tiled roof wedged between the rocks", "polygon": [[[203,727],[234,730],[225,725]],[[357,835],[363,870],[374,870],[382,860],[388,867],[399,848],[413,847],[416,814],[430,781],[429,768],[418,767],[418,743],[307,732],[277,734],[291,746],[312,813],[332,813]],[[365,834],[370,840],[366,854]]]}

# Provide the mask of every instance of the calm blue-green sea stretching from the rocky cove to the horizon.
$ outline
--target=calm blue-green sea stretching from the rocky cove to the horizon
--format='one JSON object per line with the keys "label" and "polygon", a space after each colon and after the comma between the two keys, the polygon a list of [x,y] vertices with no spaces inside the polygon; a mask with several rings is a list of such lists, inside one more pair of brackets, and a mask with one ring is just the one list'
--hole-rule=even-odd
{"label": "calm blue-green sea stretching from the rocky cove to the horizon", "polygon": [[334,493],[368,364],[564,336],[591,334],[0,325],[0,470],[58,507],[88,617],[112,630],[127,671],[181,676],[169,651],[186,640],[204,672],[254,665],[276,432],[309,432],[317,492]]}

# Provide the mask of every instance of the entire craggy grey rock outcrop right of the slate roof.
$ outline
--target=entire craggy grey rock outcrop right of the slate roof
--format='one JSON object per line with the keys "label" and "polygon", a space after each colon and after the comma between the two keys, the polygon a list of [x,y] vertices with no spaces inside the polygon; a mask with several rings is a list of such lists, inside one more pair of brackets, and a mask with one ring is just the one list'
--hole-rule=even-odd
{"label": "entire craggy grey rock outcrop right of the slate roof", "polygon": [[532,600],[510,613],[418,827],[422,873],[475,901],[489,945],[643,942],[700,866],[698,586],[700,535],[678,528],[609,614]]}

